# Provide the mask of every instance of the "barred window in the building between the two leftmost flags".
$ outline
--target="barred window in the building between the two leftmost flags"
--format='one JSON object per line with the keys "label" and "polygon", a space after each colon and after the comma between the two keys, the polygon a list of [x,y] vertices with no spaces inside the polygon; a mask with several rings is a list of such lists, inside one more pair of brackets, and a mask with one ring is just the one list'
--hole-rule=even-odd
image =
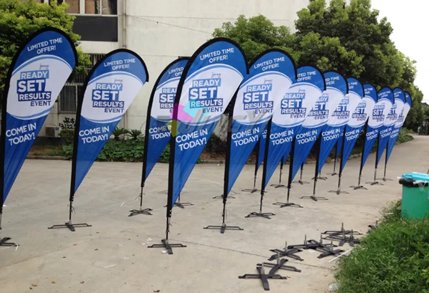
{"label": "barred window in the building between the two leftmost flags", "polygon": [[[92,68],[104,54],[89,54],[91,65],[88,70]],[[75,76],[73,80],[68,81],[59,95],[59,112],[60,113],[76,113],[78,97],[81,94],[86,75],[81,74]]]}

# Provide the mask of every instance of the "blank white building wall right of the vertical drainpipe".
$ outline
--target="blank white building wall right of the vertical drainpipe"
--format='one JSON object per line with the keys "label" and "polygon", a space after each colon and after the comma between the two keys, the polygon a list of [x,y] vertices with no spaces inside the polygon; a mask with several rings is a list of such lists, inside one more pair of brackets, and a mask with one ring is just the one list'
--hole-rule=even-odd
{"label": "blank white building wall right of the vertical drainpipe", "polygon": [[[275,25],[294,28],[296,12],[309,0],[127,0],[127,48],[145,61],[150,82],[143,86],[127,113],[127,127],[142,127],[152,87],[161,71],[179,56],[191,56],[215,28],[262,14]],[[144,126],[142,127],[144,129]]]}

